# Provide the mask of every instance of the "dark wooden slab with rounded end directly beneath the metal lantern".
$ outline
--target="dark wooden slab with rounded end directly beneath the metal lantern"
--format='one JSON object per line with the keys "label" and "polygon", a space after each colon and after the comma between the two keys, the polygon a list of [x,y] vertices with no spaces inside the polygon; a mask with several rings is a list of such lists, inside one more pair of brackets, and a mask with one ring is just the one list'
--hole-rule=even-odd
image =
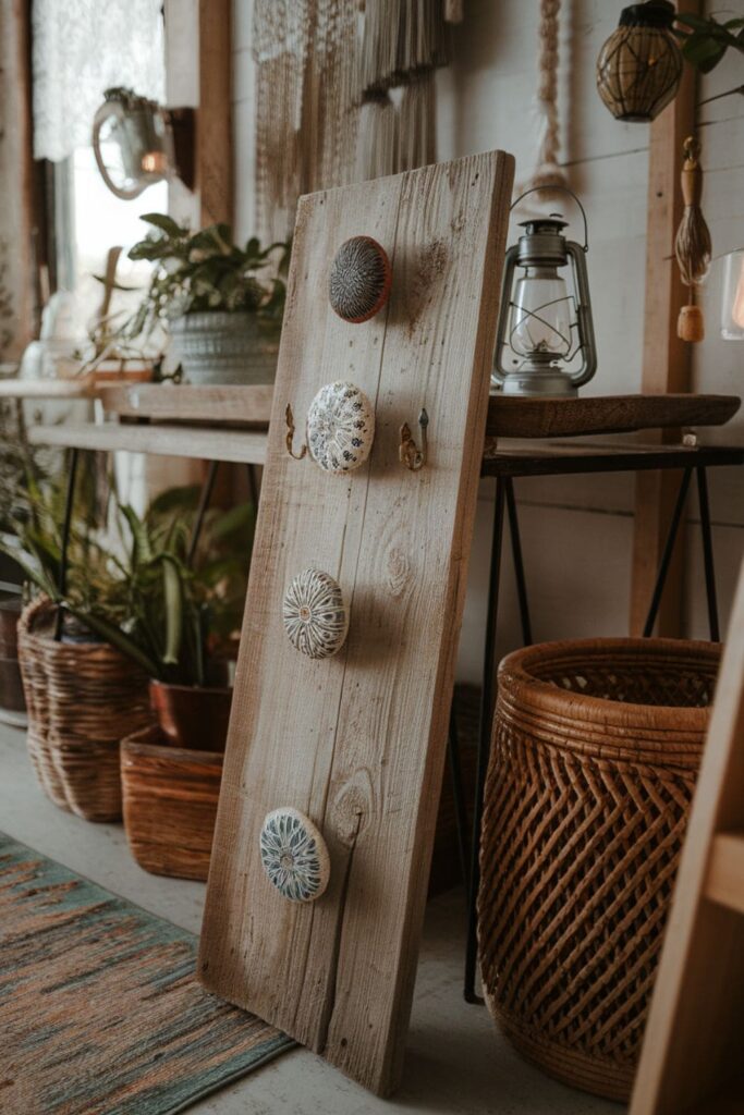
{"label": "dark wooden slab with rounded end directly beneath the metal lantern", "polygon": [[486,435],[580,437],[667,426],[723,426],[741,405],[736,395],[603,395],[576,399],[492,396]]}

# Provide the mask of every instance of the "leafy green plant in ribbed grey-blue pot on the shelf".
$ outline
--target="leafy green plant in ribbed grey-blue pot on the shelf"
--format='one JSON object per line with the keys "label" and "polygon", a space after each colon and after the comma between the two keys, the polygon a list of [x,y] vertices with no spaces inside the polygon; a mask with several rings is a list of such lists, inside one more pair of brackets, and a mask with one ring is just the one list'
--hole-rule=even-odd
{"label": "leafy green plant in ribbed grey-blue pot on the shelf", "polygon": [[192,233],[173,217],[148,213],[149,234],[129,259],[155,264],[136,313],[120,329],[133,341],[165,324],[191,384],[271,384],[284,309],[289,245],[244,248],[230,225]]}

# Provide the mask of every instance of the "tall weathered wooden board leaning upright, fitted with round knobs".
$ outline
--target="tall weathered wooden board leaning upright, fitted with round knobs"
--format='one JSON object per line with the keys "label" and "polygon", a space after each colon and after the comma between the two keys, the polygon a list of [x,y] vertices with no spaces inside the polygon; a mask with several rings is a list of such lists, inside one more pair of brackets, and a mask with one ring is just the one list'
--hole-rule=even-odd
{"label": "tall weathered wooden board leaning upright, fitted with round knobs", "polygon": [[[241,639],[200,970],[367,1087],[398,1083],[444,763],[489,400],[513,159],[496,152],[300,201]],[[393,264],[364,324],[330,309],[339,245],[374,236]],[[376,408],[365,465],[322,473],[301,442],[311,399],[348,379]],[[398,459],[399,427],[428,462]],[[307,566],[350,605],[347,641],[311,660],[281,605]],[[259,855],[265,814],[322,831],[328,890],[287,902]]]}

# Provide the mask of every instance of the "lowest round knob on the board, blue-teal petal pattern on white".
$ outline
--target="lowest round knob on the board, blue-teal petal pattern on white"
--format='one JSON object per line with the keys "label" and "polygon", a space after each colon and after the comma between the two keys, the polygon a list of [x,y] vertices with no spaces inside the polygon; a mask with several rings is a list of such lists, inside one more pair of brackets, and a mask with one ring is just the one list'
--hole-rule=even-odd
{"label": "lowest round knob on the board, blue-teal petal pattern on white", "polygon": [[267,814],[261,828],[261,863],[290,902],[315,902],[328,886],[326,842],[309,817],[291,806]]}

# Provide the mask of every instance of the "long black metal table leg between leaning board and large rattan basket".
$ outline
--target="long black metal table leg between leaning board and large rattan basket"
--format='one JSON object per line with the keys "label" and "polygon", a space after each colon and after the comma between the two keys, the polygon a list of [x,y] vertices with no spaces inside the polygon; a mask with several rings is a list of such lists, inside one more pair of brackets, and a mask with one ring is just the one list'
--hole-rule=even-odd
{"label": "long black metal table leg between leaning board and large rattan basket", "polygon": [[467,910],[467,944],[465,951],[465,1000],[483,1002],[475,995],[475,969],[477,966],[477,889],[481,881],[480,846],[481,822],[483,820],[483,792],[491,750],[491,724],[493,720],[495,689],[495,637],[499,613],[499,581],[501,578],[501,543],[504,532],[504,506],[506,486],[503,478],[496,478],[496,502],[493,514],[493,539],[491,543],[491,572],[489,575],[489,610],[485,626],[485,652],[483,661],[483,691],[481,694],[481,717],[479,725],[477,767],[475,775],[475,809],[471,844],[471,870]]}

